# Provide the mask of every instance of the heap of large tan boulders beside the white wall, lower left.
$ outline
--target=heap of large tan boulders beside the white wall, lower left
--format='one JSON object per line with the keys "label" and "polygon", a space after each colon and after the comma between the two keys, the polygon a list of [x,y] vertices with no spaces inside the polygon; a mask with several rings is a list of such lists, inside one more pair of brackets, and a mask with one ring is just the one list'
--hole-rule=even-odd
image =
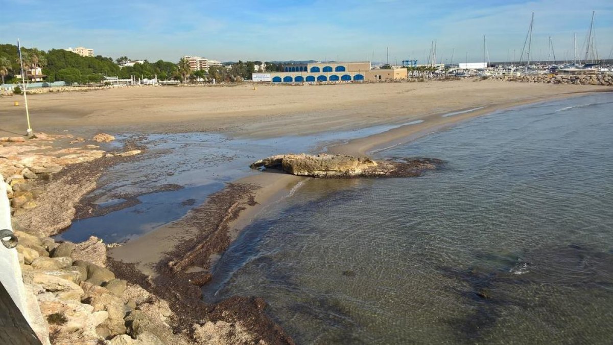
{"label": "heap of large tan boulders beside the white wall, lower left", "polygon": [[[105,267],[107,247],[15,231],[26,290],[39,303],[51,344],[186,344],[168,325],[168,304]],[[48,339],[48,341],[47,341]]]}

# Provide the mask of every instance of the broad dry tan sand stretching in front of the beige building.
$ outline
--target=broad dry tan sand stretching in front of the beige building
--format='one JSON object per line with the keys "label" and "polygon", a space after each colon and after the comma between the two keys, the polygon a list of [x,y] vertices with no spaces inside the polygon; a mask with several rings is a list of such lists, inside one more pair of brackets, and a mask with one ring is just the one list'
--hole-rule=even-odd
{"label": "broad dry tan sand stretching in front of the beige building", "polygon": [[[257,85],[257,90],[253,85],[116,88],[31,95],[29,107],[35,131],[223,131],[265,137],[402,123],[457,109],[606,89],[474,80]],[[0,98],[0,114],[0,136],[25,131],[23,97]]]}

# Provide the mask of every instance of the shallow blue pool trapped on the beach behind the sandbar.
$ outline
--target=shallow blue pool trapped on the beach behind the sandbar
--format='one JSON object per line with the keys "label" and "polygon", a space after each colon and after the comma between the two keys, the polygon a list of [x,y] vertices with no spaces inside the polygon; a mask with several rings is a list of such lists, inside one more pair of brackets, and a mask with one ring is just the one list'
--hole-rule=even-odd
{"label": "shallow blue pool trapped on the beach behind the sandbar", "polygon": [[[136,198],[137,204],[77,220],[56,239],[78,242],[93,235],[107,243],[129,241],[180,219],[221,190],[224,183],[257,173],[249,169],[255,160],[288,152],[321,152],[332,143],[420,122],[266,139],[231,138],[218,133],[151,134],[140,141],[147,152],[135,161],[110,168],[98,182],[101,187],[89,194],[101,209],[120,206],[126,198]],[[121,142],[133,136],[119,135],[120,140],[110,145],[121,150]],[[166,185],[178,189],[156,192]]]}

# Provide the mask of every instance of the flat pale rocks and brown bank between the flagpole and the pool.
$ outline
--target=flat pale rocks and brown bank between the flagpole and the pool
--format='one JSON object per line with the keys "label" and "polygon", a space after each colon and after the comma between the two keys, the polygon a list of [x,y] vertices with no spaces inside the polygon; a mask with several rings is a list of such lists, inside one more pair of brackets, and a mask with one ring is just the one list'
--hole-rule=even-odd
{"label": "flat pale rocks and brown bank between the flagpole and the pool", "polygon": [[114,139],[105,133],[91,141],[45,133],[0,138],[0,183],[6,184],[13,217],[46,236],[70,225],[74,204],[96,186],[101,166],[111,162],[100,158],[141,153],[106,152],[99,146]]}

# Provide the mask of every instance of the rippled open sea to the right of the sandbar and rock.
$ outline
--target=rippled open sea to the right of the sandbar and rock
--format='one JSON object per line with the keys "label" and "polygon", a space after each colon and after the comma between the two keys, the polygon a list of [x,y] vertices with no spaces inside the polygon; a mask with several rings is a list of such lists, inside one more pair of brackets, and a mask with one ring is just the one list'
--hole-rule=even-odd
{"label": "rippled open sea to the right of the sandbar and rock", "polygon": [[299,344],[611,344],[613,94],[378,152],[408,179],[311,179],[249,225],[205,299],[263,297]]}

